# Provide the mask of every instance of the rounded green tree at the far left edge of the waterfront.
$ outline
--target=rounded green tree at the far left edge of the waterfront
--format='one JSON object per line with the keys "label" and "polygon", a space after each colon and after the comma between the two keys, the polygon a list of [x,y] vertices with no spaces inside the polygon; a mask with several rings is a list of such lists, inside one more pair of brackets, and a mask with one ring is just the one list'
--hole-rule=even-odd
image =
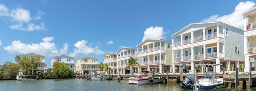
{"label": "rounded green tree at the far left edge of the waterfront", "polygon": [[0,79],[11,80],[15,79],[19,75],[19,65],[11,61],[6,61],[3,66],[0,67]]}

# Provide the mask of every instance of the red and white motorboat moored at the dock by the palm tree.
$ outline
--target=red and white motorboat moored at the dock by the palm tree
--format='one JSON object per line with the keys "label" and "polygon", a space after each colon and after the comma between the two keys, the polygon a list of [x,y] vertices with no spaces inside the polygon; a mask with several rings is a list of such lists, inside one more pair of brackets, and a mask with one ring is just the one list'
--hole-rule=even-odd
{"label": "red and white motorboat moored at the dock by the palm tree", "polygon": [[[148,75],[153,75],[152,71],[142,71],[143,74],[140,76],[136,76],[136,77],[130,77],[128,79],[129,84],[149,84],[149,80],[148,80]],[[156,73],[154,73],[154,75],[158,75]],[[164,81],[164,78],[161,77],[155,77],[154,78],[154,82],[153,83],[161,83]]]}

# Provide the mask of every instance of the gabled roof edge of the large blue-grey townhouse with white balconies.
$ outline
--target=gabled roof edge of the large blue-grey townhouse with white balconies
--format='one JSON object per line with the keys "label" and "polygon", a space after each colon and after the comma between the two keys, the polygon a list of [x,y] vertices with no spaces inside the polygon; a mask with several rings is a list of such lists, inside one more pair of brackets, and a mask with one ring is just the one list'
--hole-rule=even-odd
{"label": "gabled roof edge of the large blue-grey townhouse with white balconies", "polygon": [[[213,24],[213,23],[220,23],[220,24],[223,24],[223,25],[228,25],[228,24],[225,24],[225,23],[220,22],[220,21],[215,21],[215,22],[191,23],[191,24],[187,25],[186,27],[184,27],[184,28],[180,29],[178,32],[176,32],[176,33],[174,33],[173,35],[171,35],[171,37],[173,37],[173,36],[174,36],[174,35],[176,35],[177,33],[180,33],[181,31],[183,31],[184,29],[186,29],[187,27],[189,27],[189,26],[191,26],[191,25],[199,25],[199,24]],[[210,25],[210,26],[212,26],[212,25]],[[208,26],[208,27],[210,27],[210,26]],[[237,29],[237,30],[243,31],[242,29],[239,29],[239,28],[234,27],[234,26],[232,26],[232,25],[228,25],[228,26],[229,26],[229,27],[233,27],[233,28],[235,28],[235,29]],[[200,29],[203,29],[203,28],[205,28],[205,27],[191,28],[191,29],[188,29],[187,31],[185,31],[185,32],[184,32],[184,33],[182,33],[182,34],[189,33],[189,32],[191,32],[191,31],[197,31],[197,30],[200,30]]]}

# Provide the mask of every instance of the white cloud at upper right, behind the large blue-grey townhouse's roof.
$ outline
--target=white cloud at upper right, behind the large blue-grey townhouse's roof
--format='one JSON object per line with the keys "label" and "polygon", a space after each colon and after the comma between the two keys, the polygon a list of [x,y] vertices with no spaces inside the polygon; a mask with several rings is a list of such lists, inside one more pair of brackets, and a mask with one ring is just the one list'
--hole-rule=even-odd
{"label": "white cloud at upper right, behind the large blue-grey townhouse's roof", "polygon": [[212,15],[209,18],[203,19],[201,22],[211,22],[211,21],[221,21],[226,24],[230,24],[239,29],[243,29],[243,16],[241,13],[252,9],[255,6],[254,2],[240,2],[236,7],[233,13],[229,15],[219,16],[218,14]]}

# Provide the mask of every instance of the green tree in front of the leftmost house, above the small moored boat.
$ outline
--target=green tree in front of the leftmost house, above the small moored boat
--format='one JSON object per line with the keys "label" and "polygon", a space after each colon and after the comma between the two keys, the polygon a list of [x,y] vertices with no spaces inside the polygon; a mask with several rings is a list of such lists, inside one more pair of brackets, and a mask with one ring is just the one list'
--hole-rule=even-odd
{"label": "green tree in front of the leftmost house, above the small moored boat", "polygon": [[39,55],[32,55],[30,57],[16,55],[15,61],[19,64],[20,70],[24,75],[34,77],[36,75],[34,73],[38,71],[39,63],[42,62],[42,58]]}

